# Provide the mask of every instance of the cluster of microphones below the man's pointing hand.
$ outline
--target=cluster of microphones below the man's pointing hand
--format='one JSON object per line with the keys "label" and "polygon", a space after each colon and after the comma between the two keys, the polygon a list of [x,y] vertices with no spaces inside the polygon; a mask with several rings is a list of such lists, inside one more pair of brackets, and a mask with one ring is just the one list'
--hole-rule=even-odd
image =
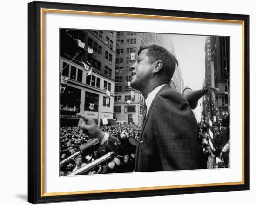
{"label": "cluster of microphones below the man's pointing hand", "polygon": [[98,138],[89,140],[79,147],[78,152],[61,161],[60,165],[65,166],[76,157],[82,156],[84,159],[89,158],[88,164],[70,172],[68,176],[132,172],[135,167],[137,140],[128,136],[125,131],[115,137],[115,142],[108,139],[102,145]]}

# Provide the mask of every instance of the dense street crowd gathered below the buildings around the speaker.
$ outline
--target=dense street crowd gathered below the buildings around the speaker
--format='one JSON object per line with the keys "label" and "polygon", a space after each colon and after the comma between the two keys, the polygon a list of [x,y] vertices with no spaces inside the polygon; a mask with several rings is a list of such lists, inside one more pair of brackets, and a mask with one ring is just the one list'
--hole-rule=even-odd
{"label": "dense street crowd gathered below the buildings around the speaker", "polygon": [[[214,122],[213,125],[214,141],[212,149],[209,139],[209,123],[204,121],[198,123],[199,139],[202,142],[202,152],[205,155],[207,168],[229,167],[229,119],[227,117],[222,120],[222,124]],[[141,125],[115,125],[115,126],[100,126],[103,132],[107,132],[112,136],[118,136],[122,132],[126,132],[128,136],[139,138]],[[61,127],[60,129],[60,160],[67,159],[72,154],[79,152],[79,147],[88,142],[90,138],[87,134],[82,133],[77,126]],[[88,163],[89,158],[81,158],[81,156],[72,159],[65,165],[61,165],[61,175],[67,175],[83,165]],[[220,159],[220,163],[216,163]]]}

